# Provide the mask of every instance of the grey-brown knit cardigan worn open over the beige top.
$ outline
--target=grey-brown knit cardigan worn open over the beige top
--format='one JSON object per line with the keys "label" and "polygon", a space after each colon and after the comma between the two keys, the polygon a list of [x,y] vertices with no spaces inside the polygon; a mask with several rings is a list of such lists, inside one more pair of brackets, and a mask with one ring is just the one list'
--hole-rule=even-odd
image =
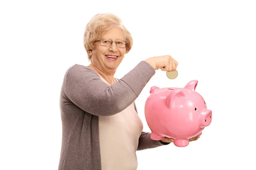
{"label": "grey-brown knit cardigan worn open over the beige top", "polygon": [[[78,64],[70,67],[60,94],[62,144],[58,170],[101,170],[98,116],[127,108],[154,74],[154,68],[141,61],[118,82],[108,85],[91,68]],[[169,144],[151,140],[150,134],[141,133],[137,150]]]}

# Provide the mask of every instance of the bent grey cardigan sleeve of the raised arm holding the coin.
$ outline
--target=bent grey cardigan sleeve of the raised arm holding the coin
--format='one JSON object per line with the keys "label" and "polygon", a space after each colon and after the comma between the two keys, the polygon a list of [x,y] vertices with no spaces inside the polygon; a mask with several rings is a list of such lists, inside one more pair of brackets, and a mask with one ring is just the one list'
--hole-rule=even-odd
{"label": "bent grey cardigan sleeve of the raised arm holding the coin", "polygon": [[65,74],[63,89],[67,98],[82,110],[111,116],[131,105],[154,74],[154,68],[142,61],[118,82],[108,85],[93,69],[73,65]]}

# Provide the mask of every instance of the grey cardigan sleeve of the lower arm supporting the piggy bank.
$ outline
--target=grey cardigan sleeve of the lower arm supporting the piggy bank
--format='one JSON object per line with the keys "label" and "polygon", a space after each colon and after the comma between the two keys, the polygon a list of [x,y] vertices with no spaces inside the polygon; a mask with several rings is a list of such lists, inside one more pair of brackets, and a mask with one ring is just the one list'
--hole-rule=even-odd
{"label": "grey cardigan sleeve of the lower arm supporting the piggy bank", "polygon": [[[135,111],[138,113],[135,102],[134,102],[134,108],[135,108]],[[160,140],[159,141],[152,140],[150,138],[150,135],[151,133],[147,133],[147,132],[141,133],[137,150],[152,149],[155,147],[170,144],[170,143],[162,142]]]}

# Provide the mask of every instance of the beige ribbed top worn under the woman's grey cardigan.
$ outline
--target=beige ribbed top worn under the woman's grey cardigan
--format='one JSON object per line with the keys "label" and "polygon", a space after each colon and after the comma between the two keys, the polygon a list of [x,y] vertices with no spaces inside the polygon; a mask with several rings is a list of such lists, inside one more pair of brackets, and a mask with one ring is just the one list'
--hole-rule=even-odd
{"label": "beige ribbed top worn under the woman's grey cardigan", "polygon": [[99,116],[102,170],[136,170],[136,151],[142,130],[134,102],[113,116]]}

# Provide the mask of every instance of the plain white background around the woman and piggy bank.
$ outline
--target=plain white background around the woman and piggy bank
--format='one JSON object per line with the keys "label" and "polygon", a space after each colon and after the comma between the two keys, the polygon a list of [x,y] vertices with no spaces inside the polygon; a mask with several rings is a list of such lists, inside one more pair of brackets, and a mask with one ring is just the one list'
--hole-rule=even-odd
{"label": "plain white background around the woman and piggy bank", "polygon": [[144,130],[151,86],[196,91],[212,124],[187,147],[137,152],[138,170],[256,169],[256,5],[251,0],[7,1],[0,3],[0,169],[56,170],[61,151],[59,94],[67,68],[89,65],[83,33],[98,13],[111,12],[134,46],[119,66],[122,78],[141,60],[171,55],[175,80],[156,71],[136,99]]}

